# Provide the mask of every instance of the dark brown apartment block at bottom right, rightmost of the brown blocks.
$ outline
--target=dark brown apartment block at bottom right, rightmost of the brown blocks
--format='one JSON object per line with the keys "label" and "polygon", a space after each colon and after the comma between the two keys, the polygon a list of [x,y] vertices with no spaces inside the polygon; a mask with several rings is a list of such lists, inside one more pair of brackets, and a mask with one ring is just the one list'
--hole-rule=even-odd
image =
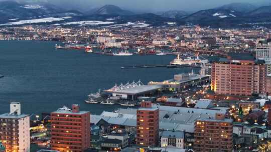
{"label": "dark brown apartment block at bottom right, rightmost of the brown blocks", "polygon": [[232,119],[217,113],[215,119],[201,118],[195,122],[195,152],[223,151],[231,152],[233,148]]}

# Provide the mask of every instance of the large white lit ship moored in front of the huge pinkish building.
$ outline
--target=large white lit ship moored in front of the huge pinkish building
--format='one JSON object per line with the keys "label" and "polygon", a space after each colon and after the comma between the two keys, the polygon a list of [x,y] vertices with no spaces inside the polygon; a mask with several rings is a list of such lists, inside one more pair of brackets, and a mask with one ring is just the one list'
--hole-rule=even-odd
{"label": "large white lit ship moored in front of the huge pinkish building", "polygon": [[180,57],[180,54],[177,55],[177,58],[172,60],[170,62],[171,65],[183,65],[183,64],[202,64],[202,63],[208,63],[209,61],[207,59],[200,59],[199,55],[197,54],[197,58],[191,58],[187,57],[185,59],[182,59]]}

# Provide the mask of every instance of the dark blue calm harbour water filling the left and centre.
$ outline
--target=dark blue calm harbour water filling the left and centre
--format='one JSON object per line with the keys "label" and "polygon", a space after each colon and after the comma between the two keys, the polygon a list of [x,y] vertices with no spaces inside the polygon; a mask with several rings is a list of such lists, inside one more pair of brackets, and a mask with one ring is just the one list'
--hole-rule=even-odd
{"label": "dark blue calm harbour water filling the left and centre", "polygon": [[[10,101],[20,101],[22,113],[51,112],[78,103],[81,110],[100,114],[120,105],[87,104],[99,88],[141,79],[162,81],[192,68],[133,68],[121,66],[168,64],[174,55],[106,56],[81,50],[55,49],[52,41],[0,41],[0,113],[9,112]],[[197,69],[194,69],[196,72]],[[122,106],[123,107],[123,106]]]}

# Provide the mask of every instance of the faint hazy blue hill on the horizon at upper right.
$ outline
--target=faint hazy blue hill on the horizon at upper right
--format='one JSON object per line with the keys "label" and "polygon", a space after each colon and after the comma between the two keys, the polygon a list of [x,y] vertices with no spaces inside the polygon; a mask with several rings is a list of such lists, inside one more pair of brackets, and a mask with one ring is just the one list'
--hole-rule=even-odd
{"label": "faint hazy blue hill on the horizon at upper right", "polygon": [[250,3],[245,3],[245,2],[234,2],[226,5],[222,5],[220,7],[214,8],[214,9],[227,9],[227,10],[234,10],[234,11],[239,11],[239,12],[249,12],[257,7],[250,4]]}

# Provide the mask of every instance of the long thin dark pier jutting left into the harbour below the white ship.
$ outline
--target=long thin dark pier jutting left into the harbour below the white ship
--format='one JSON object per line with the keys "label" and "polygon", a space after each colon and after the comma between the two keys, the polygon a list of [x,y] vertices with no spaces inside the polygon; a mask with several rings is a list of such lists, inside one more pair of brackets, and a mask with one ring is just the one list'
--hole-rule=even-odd
{"label": "long thin dark pier jutting left into the harbour below the white ship", "polygon": [[200,65],[170,65],[170,64],[161,64],[161,65],[133,65],[133,66],[122,66],[121,68],[151,68],[151,67],[167,67],[167,68],[177,68],[177,67],[201,67]]}

